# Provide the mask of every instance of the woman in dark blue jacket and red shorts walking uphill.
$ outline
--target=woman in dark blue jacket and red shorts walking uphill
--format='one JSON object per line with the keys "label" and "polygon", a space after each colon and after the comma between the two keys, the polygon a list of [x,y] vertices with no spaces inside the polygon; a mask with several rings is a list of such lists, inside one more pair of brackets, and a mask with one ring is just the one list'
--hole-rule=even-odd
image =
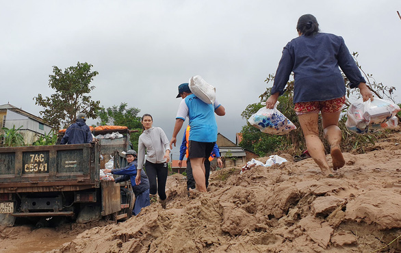
{"label": "woman in dark blue jacket and red shorts walking uphill", "polygon": [[289,75],[294,72],[294,108],[309,154],[324,175],[333,176],[319,138],[318,119],[321,112],[324,136],[331,145],[333,170],[337,170],[345,164],[338,121],[346,101],[346,86],[339,68],[350,81],[350,88],[359,88],[363,101],[373,100],[372,92],[343,38],[320,33],[318,21],[311,14],[298,19],[296,30],[298,38],[288,42],[283,49],[266,107],[273,109],[284,92]]}

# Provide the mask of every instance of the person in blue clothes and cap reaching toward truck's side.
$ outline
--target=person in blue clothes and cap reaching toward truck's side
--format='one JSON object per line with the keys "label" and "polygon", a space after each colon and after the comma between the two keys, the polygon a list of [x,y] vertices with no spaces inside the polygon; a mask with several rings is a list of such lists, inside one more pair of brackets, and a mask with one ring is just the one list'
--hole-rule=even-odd
{"label": "person in blue clothes and cap reaching toward truck's side", "polygon": [[[143,170],[136,169],[138,167],[138,159],[135,150],[128,150],[125,153],[125,159],[127,159],[128,162],[128,165],[125,168],[105,169],[103,172],[122,175],[115,179],[116,183],[131,179],[133,194],[135,194],[135,204],[132,209],[132,214],[138,215],[142,208],[151,204],[151,200],[149,198],[149,180],[148,176],[146,176],[146,173]],[[138,171],[141,175],[141,182],[139,185],[136,185],[135,176]]]}

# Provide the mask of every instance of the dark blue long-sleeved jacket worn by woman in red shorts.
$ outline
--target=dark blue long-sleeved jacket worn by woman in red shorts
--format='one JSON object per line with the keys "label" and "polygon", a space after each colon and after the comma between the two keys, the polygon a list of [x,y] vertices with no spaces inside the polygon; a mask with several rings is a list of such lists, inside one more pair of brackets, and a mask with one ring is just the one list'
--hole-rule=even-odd
{"label": "dark blue long-sleeved jacket worn by woman in red shorts", "polygon": [[289,75],[294,72],[294,103],[341,98],[346,94],[346,86],[339,68],[348,77],[350,88],[365,83],[343,38],[324,33],[299,36],[283,49],[272,94],[283,94]]}

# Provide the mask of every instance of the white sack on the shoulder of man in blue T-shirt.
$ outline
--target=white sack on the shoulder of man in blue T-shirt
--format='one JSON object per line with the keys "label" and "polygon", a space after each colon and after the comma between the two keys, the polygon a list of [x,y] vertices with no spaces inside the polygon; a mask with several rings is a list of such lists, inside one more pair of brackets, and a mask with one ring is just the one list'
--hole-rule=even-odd
{"label": "white sack on the shoulder of man in blue T-shirt", "polygon": [[207,104],[213,104],[216,101],[216,88],[203,80],[202,77],[198,75],[191,77],[188,87],[201,101]]}

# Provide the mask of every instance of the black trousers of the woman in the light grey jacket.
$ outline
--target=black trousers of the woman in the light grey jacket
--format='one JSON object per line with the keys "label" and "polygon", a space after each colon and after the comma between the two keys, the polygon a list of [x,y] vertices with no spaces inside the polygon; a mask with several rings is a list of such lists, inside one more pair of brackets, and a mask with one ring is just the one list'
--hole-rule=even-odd
{"label": "black trousers of the woman in the light grey jacket", "polygon": [[161,200],[165,200],[166,196],[166,181],[168,174],[167,163],[151,163],[146,160],[145,163],[146,175],[149,178],[149,193],[159,194]]}

